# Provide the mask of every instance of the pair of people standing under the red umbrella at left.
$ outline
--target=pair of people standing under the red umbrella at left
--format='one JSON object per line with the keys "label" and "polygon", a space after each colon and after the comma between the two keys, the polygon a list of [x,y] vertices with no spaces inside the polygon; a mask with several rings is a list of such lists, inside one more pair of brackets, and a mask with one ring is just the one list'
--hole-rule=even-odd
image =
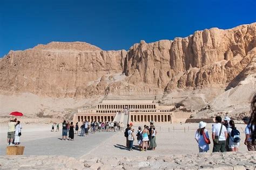
{"label": "pair of people standing under the red umbrella at left", "polygon": [[7,132],[7,146],[15,146],[21,144],[21,122],[15,119],[10,119],[8,123],[8,132]]}

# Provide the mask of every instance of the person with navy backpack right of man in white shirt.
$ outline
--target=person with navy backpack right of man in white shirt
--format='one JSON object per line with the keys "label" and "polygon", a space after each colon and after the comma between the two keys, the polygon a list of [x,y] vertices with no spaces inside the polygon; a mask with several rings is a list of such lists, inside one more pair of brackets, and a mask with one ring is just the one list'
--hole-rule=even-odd
{"label": "person with navy backpack right of man in white shirt", "polygon": [[237,152],[240,143],[240,132],[235,128],[234,121],[230,121],[230,128],[227,129],[228,133],[228,147],[232,152]]}

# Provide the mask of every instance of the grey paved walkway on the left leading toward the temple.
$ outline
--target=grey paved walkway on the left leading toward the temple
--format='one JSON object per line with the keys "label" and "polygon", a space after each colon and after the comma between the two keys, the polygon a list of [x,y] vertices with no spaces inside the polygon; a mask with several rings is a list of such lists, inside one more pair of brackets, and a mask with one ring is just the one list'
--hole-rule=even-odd
{"label": "grey paved walkway on the left leading toward the temple", "polygon": [[[48,135],[47,135],[48,134]],[[75,134],[75,140],[60,140],[61,132],[42,131],[22,135],[22,146],[25,146],[24,155],[67,155],[79,158],[86,154],[107,138],[113,136],[114,132],[89,133],[88,137],[80,137]],[[1,134],[2,136],[2,134]],[[38,137],[36,137],[38,136]],[[39,138],[45,136],[45,138]],[[53,136],[53,137],[52,137]],[[5,138],[5,135],[4,135]],[[26,140],[24,141],[24,138]],[[28,140],[29,139],[29,140]],[[0,155],[5,155],[6,142],[1,140]]]}

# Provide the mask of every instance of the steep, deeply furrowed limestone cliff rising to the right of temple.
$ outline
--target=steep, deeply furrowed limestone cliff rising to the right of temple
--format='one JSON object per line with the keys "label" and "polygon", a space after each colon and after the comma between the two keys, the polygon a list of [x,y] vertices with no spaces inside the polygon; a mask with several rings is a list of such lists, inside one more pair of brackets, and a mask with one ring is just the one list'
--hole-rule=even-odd
{"label": "steep, deeply furrowed limestone cliff rising to the right of temple", "polygon": [[246,70],[256,73],[255,51],[256,23],[230,30],[213,28],[173,41],[134,44],[125,58],[124,73],[132,84],[142,81],[167,92],[226,84],[238,75],[241,80]]}

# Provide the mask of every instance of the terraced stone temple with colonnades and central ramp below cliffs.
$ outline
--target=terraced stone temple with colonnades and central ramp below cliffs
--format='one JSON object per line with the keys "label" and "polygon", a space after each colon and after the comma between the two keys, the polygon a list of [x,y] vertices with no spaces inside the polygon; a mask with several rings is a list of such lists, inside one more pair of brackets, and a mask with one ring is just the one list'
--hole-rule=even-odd
{"label": "terraced stone temple with colonnades and central ramp below cliffs", "polygon": [[94,109],[79,109],[73,122],[169,122],[175,105],[159,105],[151,100],[104,100]]}

